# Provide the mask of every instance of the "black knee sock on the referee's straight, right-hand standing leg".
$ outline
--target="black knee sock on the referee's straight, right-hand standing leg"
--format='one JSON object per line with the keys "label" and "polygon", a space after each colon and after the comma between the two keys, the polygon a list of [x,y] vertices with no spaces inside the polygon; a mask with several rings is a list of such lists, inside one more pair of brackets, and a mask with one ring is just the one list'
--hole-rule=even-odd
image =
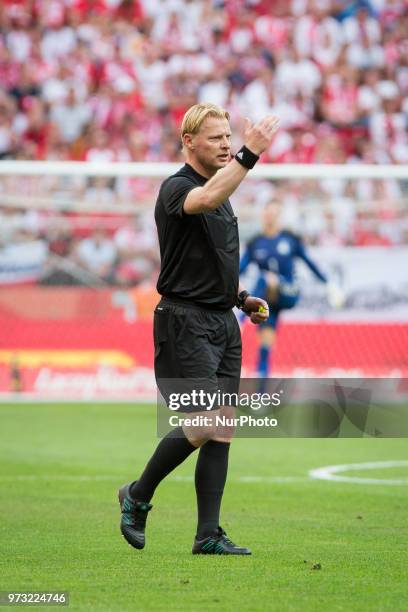
{"label": "black knee sock on the referee's straight, right-hand standing leg", "polygon": [[221,499],[227,479],[229,447],[229,442],[209,440],[200,449],[195,471],[198,540],[211,535],[219,525]]}

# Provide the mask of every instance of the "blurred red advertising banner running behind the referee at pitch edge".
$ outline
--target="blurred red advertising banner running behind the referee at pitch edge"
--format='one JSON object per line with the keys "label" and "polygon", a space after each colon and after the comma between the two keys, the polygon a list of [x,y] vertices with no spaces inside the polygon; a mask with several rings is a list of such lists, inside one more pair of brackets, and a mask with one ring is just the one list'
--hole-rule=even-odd
{"label": "blurred red advertising banner running behind the referee at pitch edge", "polygon": [[[154,399],[151,287],[0,290],[0,394]],[[243,326],[243,376],[256,375],[255,326]],[[283,321],[273,375],[407,376],[404,322]]]}

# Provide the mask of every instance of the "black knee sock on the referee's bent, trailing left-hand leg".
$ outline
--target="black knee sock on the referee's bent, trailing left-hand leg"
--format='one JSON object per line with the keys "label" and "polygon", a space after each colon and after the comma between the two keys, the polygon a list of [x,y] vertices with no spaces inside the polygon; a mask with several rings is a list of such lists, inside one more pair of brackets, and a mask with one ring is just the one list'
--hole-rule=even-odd
{"label": "black knee sock on the referee's bent, trailing left-hand leg", "polygon": [[181,427],[170,431],[159,442],[139,480],[131,485],[131,496],[134,499],[149,502],[163,478],[195,450],[196,447],[188,441]]}

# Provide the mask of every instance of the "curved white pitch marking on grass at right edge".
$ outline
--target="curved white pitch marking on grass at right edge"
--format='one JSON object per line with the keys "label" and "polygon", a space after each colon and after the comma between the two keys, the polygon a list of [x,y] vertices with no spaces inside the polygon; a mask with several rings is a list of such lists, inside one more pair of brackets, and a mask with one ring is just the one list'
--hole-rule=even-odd
{"label": "curved white pitch marking on grass at right edge", "polygon": [[327,465],[309,471],[313,480],[329,480],[331,482],[349,482],[352,484],[372,485],[407,485],[408,478],[362,478],[360,476],[339,476],[342,472],[360,470],[381,470],[393,467],[408,467],[408,461],[369,461],[367,463],[346,463],[343,465]]}

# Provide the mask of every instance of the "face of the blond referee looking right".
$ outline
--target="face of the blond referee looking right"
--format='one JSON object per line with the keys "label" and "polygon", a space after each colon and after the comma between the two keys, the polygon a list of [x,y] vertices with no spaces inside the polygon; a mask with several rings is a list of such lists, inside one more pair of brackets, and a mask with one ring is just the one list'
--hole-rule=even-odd
{"label": "face of the blond referee looking right", "polygon": [[231,159],[231,128],[227,119],[207,117],[197,134],[186,135],[189,155],[209,173],[224,168]]}

